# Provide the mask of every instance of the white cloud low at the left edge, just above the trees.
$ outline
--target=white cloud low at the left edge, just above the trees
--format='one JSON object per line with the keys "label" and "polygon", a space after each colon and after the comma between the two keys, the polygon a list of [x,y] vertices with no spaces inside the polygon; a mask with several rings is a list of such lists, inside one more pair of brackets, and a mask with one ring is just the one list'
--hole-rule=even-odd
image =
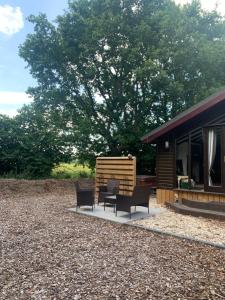
{"label": "white cloud low at the left edge, just above the trees", "polygon": [[15,116],[24,104],[32,102],[32,98],[23,92],[0,91],[0,114]]}

